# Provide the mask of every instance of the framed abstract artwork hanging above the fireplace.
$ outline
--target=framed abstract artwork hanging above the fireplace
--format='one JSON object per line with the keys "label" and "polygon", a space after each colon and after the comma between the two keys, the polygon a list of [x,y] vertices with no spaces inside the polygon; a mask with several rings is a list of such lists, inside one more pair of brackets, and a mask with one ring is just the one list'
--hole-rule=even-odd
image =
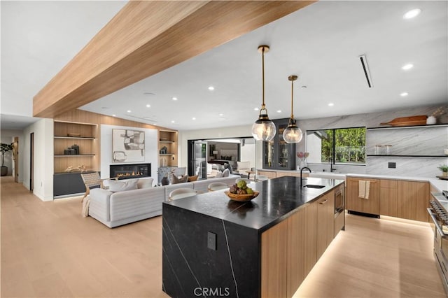
{"label": "framed abstract artwork hanging above the fireplace", "polygon": [[145,132],[112,129],[112,162],[144,162]]}

